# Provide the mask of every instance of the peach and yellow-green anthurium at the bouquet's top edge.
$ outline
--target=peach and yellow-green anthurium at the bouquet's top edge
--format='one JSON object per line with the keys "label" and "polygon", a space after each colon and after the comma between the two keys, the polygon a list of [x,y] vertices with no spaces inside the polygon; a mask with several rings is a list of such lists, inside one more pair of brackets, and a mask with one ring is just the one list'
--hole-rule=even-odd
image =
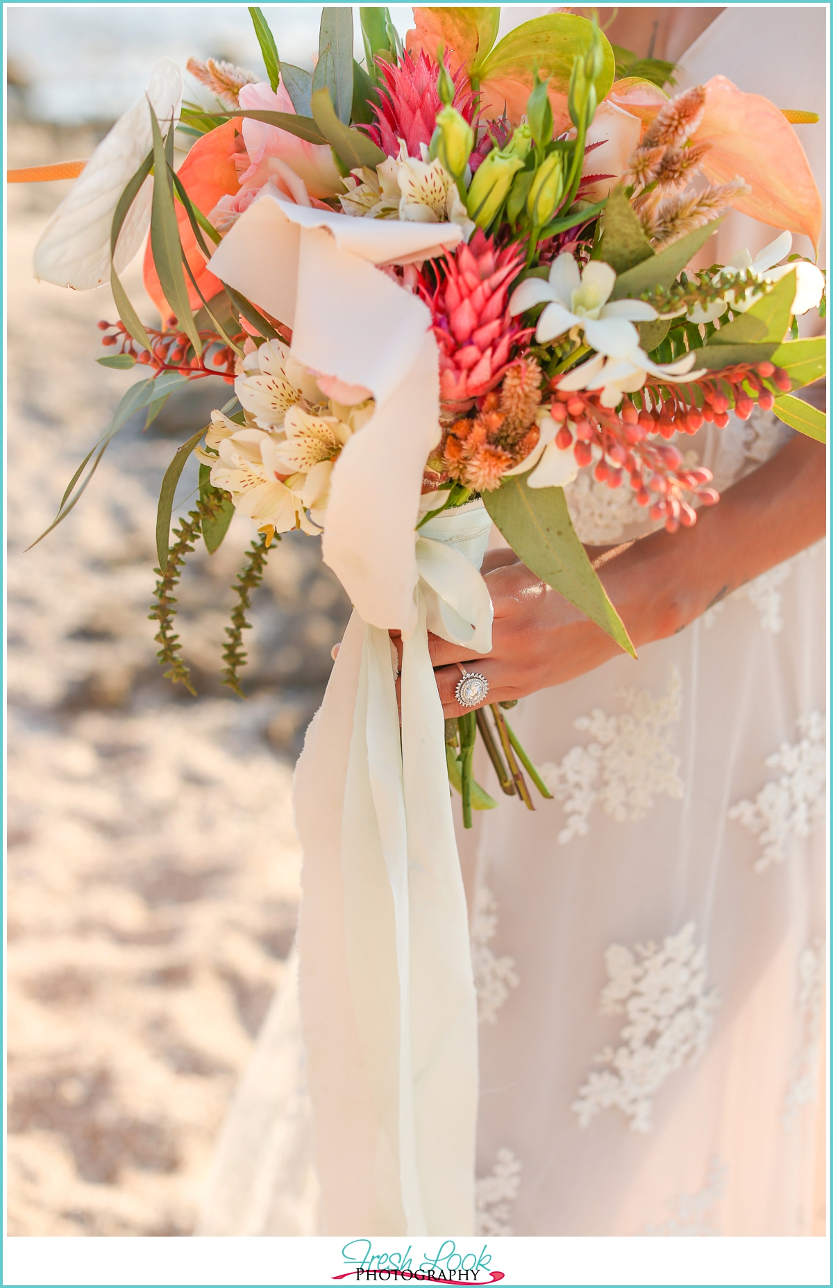
{"label": "peach and yellow-green anthurium at the bouquet's top edge", "polygon": [[[498,8],[415,9],[413,31],[406,37],[412,53],[425,49],[434,59],[440,45],[452,50],[452,70],[462,63],[473,89],[480,91],[483,116],[493,120],[506,115],[518,125],[527,111],[537,67],[542,77],[550,80],[550,102],[556,134],[569,130],[566,109],[573,58],[590,46],[591,23],[572,13],[548,13],[515,27],[496,45],[500,22]],[[613,85],[614,57],[610,45],[601,36],[604,67],[596,80],[599,100]]]}

